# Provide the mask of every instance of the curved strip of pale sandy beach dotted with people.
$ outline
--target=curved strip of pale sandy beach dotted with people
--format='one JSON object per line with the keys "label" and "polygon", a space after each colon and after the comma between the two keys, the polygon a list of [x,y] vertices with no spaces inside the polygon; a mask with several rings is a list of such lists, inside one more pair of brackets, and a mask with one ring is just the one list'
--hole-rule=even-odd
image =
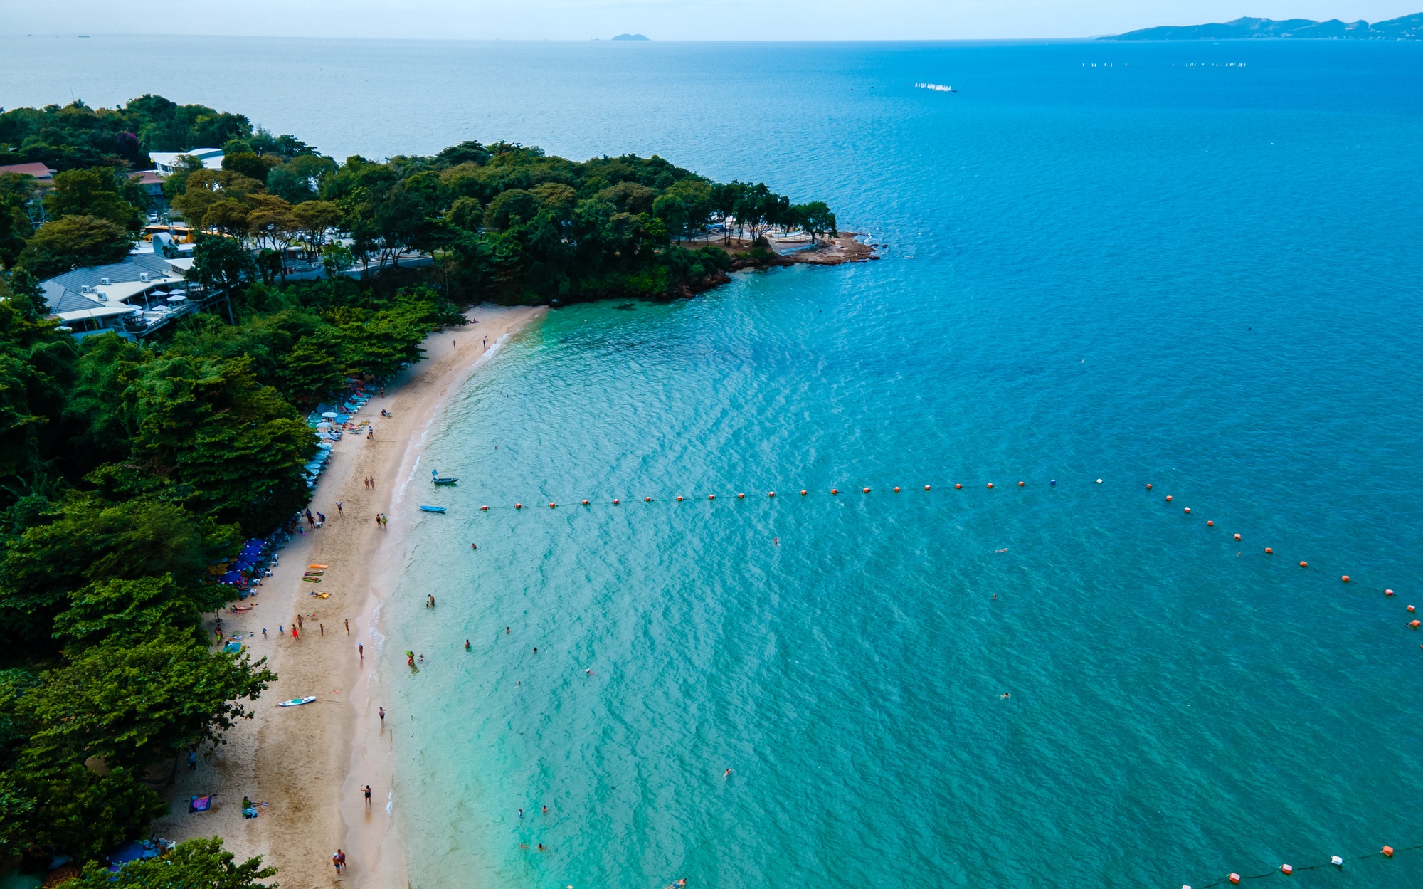
{"label": "curved strip of pale sandy beach dotted with people", "polygon": [[[272,577],[243,603],[255,605],[250,611],[222,615],[225,631],[256,634],[249,650],[253,658],[266,657],[279,680],[252,705],[255,718],[228,734],[226,745],[203,751],[195,771],[179,768],[168,788],[171,811],[154,822],[154,833],[179,841],[222,836],[239,861],[262,855],[276,866],[275,879],[286,889],[406,885],[391,831],[390,735],[377,715],[379,707],[390,708],[379,675],[380,614],[404,561],[410,519],[401,513],[414,509],[414,492],[407,497],[406,486],[445,396],[544,311],[478,306],[467,312],[478,323],[433,333],[425,360],[407,368],[359,415],[373,423],[374,436],[347,433],[334,444],[310,504],[326,514],[324,526],[282,550]],[[381,417],[381,409],[393,416]],[[364,484],[367,476],[374,489]],[[377,513],[390,514],[384,529]],[[327,566],[320,584],[302,581],[307,564]],[[302,633],[293,640],[297,614]],[[209,618],[209,633],[212,625]],[[364,658],[357,645],[364,645]],[[303,695],[319,700],[277,708]],[[216,795],[213,809],[189,813],[189,795],[205,794]],[[243,795],[259,804],[258,818],[242,818]],[[346,852],[344,875],[332,865],[337,848]]]}

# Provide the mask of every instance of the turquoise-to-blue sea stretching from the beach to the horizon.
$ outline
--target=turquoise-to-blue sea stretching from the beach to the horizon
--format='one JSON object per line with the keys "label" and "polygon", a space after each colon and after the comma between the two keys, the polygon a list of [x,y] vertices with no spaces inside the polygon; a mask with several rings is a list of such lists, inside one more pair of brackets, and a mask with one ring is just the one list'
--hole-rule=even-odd
{"label": "turquoise-to-blue sea stretching from the beach to the horizon", "polygon": [[0,58],[7,107],[656,152],[885,245],[555,311],[453,397],[383,655],[416,888],[1423,886],[1326,863],[1423,843],[1423,44]]}

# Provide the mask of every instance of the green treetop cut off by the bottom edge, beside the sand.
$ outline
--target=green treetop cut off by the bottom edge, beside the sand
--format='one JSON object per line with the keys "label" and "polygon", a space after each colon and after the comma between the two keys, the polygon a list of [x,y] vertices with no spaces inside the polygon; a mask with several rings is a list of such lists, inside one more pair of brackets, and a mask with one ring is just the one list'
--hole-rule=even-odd
{"label": "green treetop cut off by the bottom edge, beside the sand", "polygon": [[129,862],[118,873],[91,862],[65,889],[266,889],[258,880],[269,876],[276,868],[263,868],[260,855],[239,865],[213,836],[184,841],[171,855]]}

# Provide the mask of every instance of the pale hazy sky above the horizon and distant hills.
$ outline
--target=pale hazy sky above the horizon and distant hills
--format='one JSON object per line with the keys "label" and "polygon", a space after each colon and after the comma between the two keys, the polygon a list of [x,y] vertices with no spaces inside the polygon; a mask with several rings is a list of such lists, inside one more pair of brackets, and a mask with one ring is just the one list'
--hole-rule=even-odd
{"label": "pale hazy sky above the horizon and distant hills", "polygon": [[1380,21],[1420,10],[1423,0],[0,0],[0,36],[973,40],[1089,37],[1239,16]]}

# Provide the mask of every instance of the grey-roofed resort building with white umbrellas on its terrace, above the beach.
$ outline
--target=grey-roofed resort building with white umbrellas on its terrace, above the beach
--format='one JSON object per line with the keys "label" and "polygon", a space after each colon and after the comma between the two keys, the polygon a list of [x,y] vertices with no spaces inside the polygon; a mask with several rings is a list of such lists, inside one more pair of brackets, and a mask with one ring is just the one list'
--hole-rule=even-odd
{"label": "grey-roofed resort building with white umbrellas on its terrace, above the beach", "polygon": [[77,339],[112,332],[138,339],[221,296],[188,284],[192,256],[132,254],[122,262],[74,269],[40,282],[50,318]]}

